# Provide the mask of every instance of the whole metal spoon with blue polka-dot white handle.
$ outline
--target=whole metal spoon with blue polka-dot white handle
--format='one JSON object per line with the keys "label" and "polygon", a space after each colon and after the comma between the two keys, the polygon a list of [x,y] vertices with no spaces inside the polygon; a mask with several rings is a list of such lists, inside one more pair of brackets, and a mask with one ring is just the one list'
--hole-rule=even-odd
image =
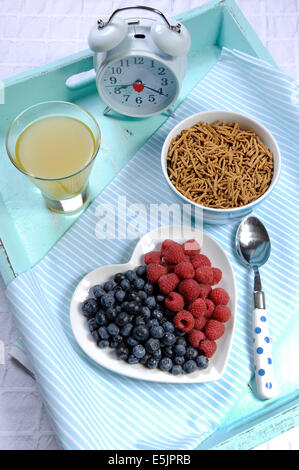
{"label": "whole metal spoon with blue polka-dot white handle", "polygon": [[266,228],[259,219],[246,217],[241,222],[236,234],[236,250],[242,263],[254,271],[253,341],[257,391],[261,398],[272,398],[276,393],[272,348],[265,295],[262,291],[259,274],[259,268],[266,263],[270,256],[271,242]]}

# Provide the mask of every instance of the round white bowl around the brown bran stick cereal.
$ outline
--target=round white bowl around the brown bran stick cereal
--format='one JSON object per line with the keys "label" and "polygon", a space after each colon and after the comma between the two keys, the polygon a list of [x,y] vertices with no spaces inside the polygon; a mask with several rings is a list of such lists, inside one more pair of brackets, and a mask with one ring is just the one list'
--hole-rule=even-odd
{"label": "round white bowl around the brown bran stick cereal", "polygon": [[[223,122],[238,122],[240,124],[241,129],[252,130],[254,131],[262,140],[262,142],[268,147],[271,152],[273,153],[274,159],[274,172],[271,184],[267,191],[258,199],[251,202],[250,204],[246,204],[242,207],[236,207],[232,209],[214,209],[202,206],[201,204],[197,204],[190,199],[186,198],[181,194],[171,183],[168,173],[167,173],[167,154],[170,143],[173,138],[175,138],[178,134],[182,132],[183,129],[188,129],[189,127],[194,126],[199,121],[205,121],[211,124],[214,121],[223,121]],[[232,111],[222,111],[222,110],[215,110],[215,111],[204,111],[201,113],[193,114],[188,118],[181,121],[177,124],[168,134],[165,139],[164,145],[162,147],[161,152],[161,165],[162,170],[165,176],[166,181],[168,182],[169,186],[173,189],[173,191],[180,196],[185,202],[192,204],[203,211],[204,222],[208,224],[224,224],[228,222],[238,221],[243,217],[247,216],[253,209],[261,204],[266,197],[269,196],[271,191],[273,190],[274,186],[277,183],[279,173],[280,173],[280,163],[281,163],[281,155],[278,144],[274,139],[273,135],[258,121],[253,119],[250,116],[246,116],[243,114],[234,113]]]}

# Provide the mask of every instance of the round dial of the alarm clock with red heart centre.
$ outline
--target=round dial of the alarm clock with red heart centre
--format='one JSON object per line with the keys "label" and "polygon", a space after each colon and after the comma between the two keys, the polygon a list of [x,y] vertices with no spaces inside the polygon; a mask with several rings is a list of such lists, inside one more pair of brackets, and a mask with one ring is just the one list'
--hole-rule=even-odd
{"label": "round dial of the alarm clock with red heart centre", "polygon": [[100,76],[99,91],[112,109],[128,116],[150,116],[174,101],[178,81],[162,62],[128,56],[111,62]]}

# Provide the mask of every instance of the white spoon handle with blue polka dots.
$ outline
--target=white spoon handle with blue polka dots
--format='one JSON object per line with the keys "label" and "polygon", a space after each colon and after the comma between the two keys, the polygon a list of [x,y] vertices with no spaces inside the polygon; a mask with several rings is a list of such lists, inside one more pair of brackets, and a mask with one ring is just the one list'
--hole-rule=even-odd
{"label": "white spoon handle with blue polka dots", "polygon": [[258,394],[264,399],[272,398],[275,395],[272,345],[267,312],[261,308],[253,311],[253,346]]}

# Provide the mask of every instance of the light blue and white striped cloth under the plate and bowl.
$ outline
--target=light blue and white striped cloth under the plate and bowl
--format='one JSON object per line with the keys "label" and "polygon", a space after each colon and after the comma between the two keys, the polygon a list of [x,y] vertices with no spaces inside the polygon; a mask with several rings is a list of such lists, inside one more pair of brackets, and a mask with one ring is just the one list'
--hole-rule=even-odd
{"label": "light blue and white striped cloth under the plate and bowl", "polygon": [[[298,303],[298,99],[295,83],[281,71],[224,49],[176,112],[177,121],[217,108],[251,114],[280,145],[280,180],[255,211],[273,242],[263,287],[274,341]],[[250,380],[251,289],[248,271],[232,252],[234,225],[205,227],[228,253],[238,286],[236,331],[221,380],[176,385],[129,379],[91,362],[72,335],[69,305],[78,281],[99,265],[126,262],[136,243],[97,239],[96,207],[114,206],[119,195],[126,195],[128,204],[181,202],[160,168],[160,150],[174,124],[168,119],[48,255],[8,286],[34,373],[65,449],[194,449],[221,424]]]}

